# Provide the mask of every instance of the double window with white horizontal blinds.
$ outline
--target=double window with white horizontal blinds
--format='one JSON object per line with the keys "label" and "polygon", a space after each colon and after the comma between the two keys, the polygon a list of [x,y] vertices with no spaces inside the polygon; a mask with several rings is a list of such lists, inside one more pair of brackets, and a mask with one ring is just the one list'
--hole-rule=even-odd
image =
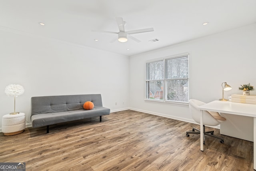
{"label": "double window with white horizontal blinds", "polygon": [[188,54],[146,63],[146,99],[188,101]]}

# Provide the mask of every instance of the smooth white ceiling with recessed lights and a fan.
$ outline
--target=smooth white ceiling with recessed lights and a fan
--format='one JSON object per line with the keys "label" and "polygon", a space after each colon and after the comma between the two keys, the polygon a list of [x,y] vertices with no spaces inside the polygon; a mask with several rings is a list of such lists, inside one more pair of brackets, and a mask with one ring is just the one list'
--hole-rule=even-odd
{"label": "smooth white ceiling with recessed lights and a fan", "polygon": [[[129,37],[110,43],[116,34],[92,32],[118,32],[116,17],[127,23],[126,31],[153,27],[154,32],[133,34],[140,43]],[[0,0],[1,28],[126,56],[254,23],[256,0]],[[149,42],[155,38],[159,41]]]}

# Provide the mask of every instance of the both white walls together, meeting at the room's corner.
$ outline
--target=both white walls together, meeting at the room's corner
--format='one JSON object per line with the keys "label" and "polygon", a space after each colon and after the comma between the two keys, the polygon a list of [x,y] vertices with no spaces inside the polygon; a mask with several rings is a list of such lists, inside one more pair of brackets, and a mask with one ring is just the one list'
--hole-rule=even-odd
{"label": "both white walls together, meeting at the room's corner", "polygon": [[[130,108],[192,121],[187,106],[144,101],[146,61],[185,52],[190,54],[190,98],[205,102],[219,99],[222,97],[222,82],[233,87],[231,91],[224,92],[225,98],[231,94],[242,94],[238,90],[240,84],[250,82],[256,86],[256,24],[130,59],[3,28],[0,28],[0,38],[1,119],[14,109],[14,99],[4,93],[5,87],[20,84],[25,92],[16,99],[16,111],[26,113],[28,121],[30,98],[33,96],[87,93],[101,93],[103,105],[112,112]],[[251,91],[251,95],[256,95],[256,90]]]}

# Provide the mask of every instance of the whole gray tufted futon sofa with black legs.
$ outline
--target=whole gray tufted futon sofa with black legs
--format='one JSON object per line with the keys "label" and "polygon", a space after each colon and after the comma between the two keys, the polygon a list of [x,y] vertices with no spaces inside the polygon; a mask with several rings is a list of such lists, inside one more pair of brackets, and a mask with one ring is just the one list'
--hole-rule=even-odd
{"label": "whole gray tufted futon sofa with black legs", "polygon": [[[92,101],[94,108],[85,110],[86,101]],[[101,121],[101,116],[108,114],[110,109],[102,106],[100,94],[31,97],[32,127],[47,126],[46,133],[49,125],[96,116]]]}

